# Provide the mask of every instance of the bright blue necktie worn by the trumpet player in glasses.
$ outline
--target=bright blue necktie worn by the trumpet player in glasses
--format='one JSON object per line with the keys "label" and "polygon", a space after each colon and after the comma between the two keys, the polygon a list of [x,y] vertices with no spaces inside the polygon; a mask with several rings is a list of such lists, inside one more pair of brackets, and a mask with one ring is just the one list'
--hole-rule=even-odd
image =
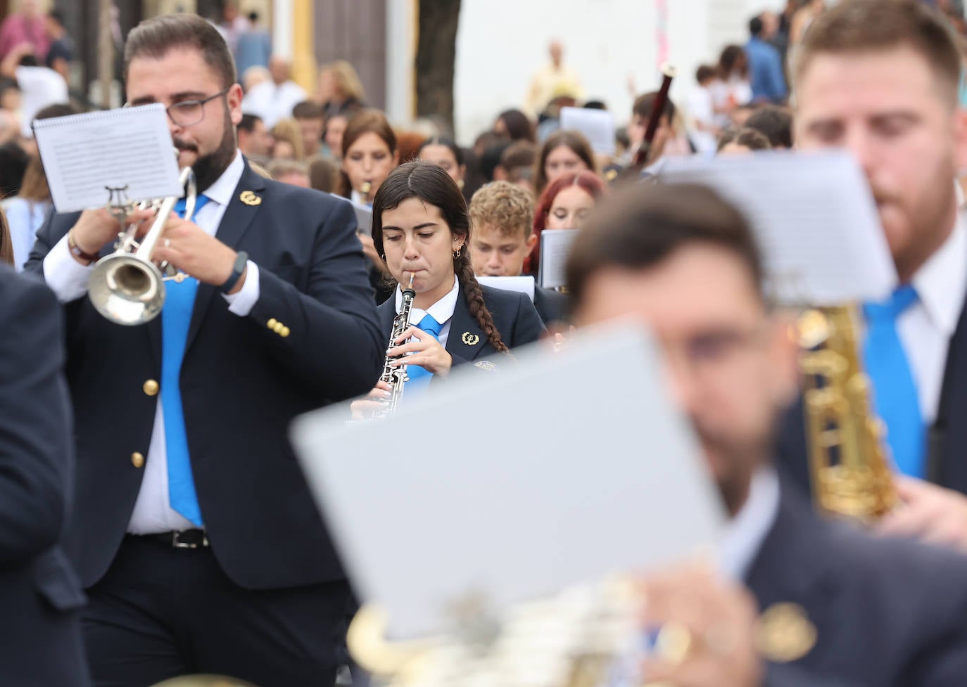
{"label": "bright blue necktie worn by the trumpet player in glasses", "polygon": [[[195,212],[207,202],[207,196],[199,195]],[[185,215],[184,198],[175,204],[175,212],[178,216]],[[168,501],[172,508],[201,527],[201,508],[194,492],[178,381],[198,280],[193,277],[181,283],[171,280],[165,282],[164,287],[164,307],[161,308],[161,411],[164,415],[164,444],[168,459]]]}

